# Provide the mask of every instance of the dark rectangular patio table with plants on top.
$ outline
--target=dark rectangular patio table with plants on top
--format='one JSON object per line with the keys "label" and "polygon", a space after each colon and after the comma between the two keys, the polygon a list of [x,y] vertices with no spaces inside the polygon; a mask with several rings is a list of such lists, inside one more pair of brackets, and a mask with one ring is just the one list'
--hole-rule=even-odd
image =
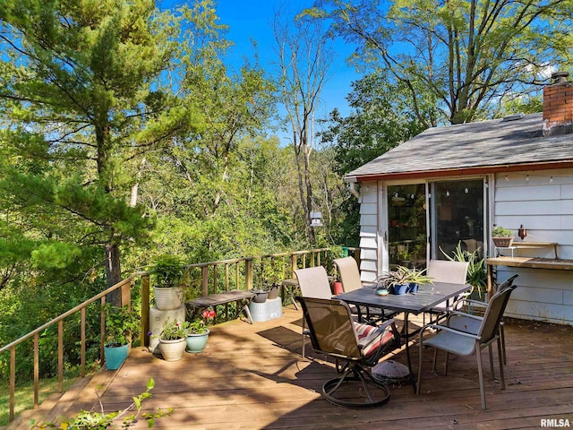
{"label": "dark rectangular patio table with plants on top", "polygon": [[[419,332],[419,330],[410,333],[408,330],[408,319],[410,314],[423,314],[429,312],[432,307],[440,305],[442,302],[447,302],[450,298],[459,296],[468,289],[472,288],[466,284],[451,284],[448,282],[434,282],[432,284],[423,284],[418,288],[415,294],[378,296],[374,294],[376,287],[363,287],[342,293],[334,298],[345,301],[349,305],[357,305],[359,312],[361,306],[380,307],[381,309],[389,309],[404,313],[404,328],[402,336],[406,340],[406,357],[408,362],[408,370],[412,385],[415,387],[415,378],[412,372],[412,362],[410,360],[410,337]],[[358,315],[359,319],[362,315]]]}

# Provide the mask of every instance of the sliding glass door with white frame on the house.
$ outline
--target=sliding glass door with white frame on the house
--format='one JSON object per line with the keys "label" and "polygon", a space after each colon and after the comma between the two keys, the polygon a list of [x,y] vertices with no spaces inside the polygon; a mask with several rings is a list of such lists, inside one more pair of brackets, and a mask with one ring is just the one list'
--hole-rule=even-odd
{"label": "sliding glass door with white frame on the house", "polygon": [[427,258],[446,260],[458,245],[483,256],[487,188],[483,178],[387,185],[387,235],[382,270],[422,269]]}

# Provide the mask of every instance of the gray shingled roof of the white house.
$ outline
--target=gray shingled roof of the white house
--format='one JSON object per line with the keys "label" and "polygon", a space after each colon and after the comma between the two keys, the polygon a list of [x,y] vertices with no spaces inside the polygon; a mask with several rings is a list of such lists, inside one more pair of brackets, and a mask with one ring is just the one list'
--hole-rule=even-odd
{"label": "gray shingled roof of the white house", "polygon": [[573,160],[573,134],[542,136],[542,114],[430,128],[348,173],[378,176]]}

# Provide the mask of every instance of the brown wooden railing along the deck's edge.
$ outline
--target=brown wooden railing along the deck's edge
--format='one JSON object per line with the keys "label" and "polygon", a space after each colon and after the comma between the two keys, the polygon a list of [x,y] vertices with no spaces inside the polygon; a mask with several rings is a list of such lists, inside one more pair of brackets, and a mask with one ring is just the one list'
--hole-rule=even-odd
{"label": "brown wooden railing along the deck's edge", "polygon": [[[345,248],[348,254],[354,255],[358,260],[359,253],[357,248]],[[208,296],[211,293],[228,291],[230,289],[249,289],[258,286],[261,278],[264,276],[265,267],[271,267],[273,273],[277,274],[280,280],[293,278],[294,271],[299,268],[325,265],[329,263],[329,248],[312,249],[305,251],[295,251],[290,253],[269,254],[254,257],[243,257],[218,262],[201,262],[187,266],[188,276],[191,281],[190,290],[195,292],[196,296]],[[327,270],[332,268],[327,267]],[[129,278],[118,282],[113,287],[107,288],[97,296],[75,306],[64,314],[61,314],[45,323],[41,327],[22,336],[18,340],[0,348],[0,355],[10,353],[10,410],[9,420],[14,419],[15,393],[16,393],[16,364],[19,357],[16,356],[16,348],[26,341],[32,342],[33,346],[33,391],[34,409],[38,408],[39,393],[39,357],[40,357],[40,334],[42,331],[57,325],[57,392],[64,391],[64,320],[74,314],[80,313],[80,376],[86,374],[86,314],[88,306],[99,302],[100,304],[100,357],[104,359],[104,342],[105,342],[105,314],[104,305],[106,297],[118,288],[121,288],[122,305],[132,305],[131,288],[135,280],[141,278],[141,333],[140,340],[142,345],[149,345],[149,319],[150,319],[150,274],[142,271],[134,273]],[[21,359],[28,359],[23,357]]]}

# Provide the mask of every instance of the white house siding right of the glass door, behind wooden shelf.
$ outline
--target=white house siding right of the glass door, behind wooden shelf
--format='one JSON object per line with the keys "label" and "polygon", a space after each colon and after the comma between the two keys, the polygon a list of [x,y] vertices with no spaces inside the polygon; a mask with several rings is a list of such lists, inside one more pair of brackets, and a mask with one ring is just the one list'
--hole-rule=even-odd
{"label": "white house siding right of the glass door, behind wooden shelf", "polygon": [[[496,176],[494,223],[516,231],[525,241],[557,242],[560,258],[573,259],[573,171],[545,170]],[[516,255],[553,258],[552,248],[522,249]],[[503,254],[506,254],[504,252]],[[498,280],[518,273],[509,316],[573,325],[573,271],[498,267]]]}

